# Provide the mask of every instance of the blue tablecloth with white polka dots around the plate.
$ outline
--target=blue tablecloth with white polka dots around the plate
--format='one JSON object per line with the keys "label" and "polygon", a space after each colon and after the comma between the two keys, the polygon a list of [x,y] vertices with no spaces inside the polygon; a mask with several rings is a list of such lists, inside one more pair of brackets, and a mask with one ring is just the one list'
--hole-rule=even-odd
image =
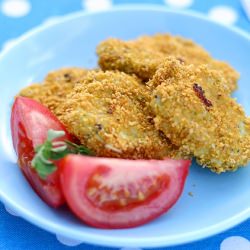
{"label": "blue tablecloth with white polka dots around the plate", "polygon": [[[250,32],[250,16],[247,16],[239,0],[0,0],[0,50],[11,46],[16,38],[29,29],[45,22],[53,22],[68,13],[83,9],[108,9],[113,5],[128,3],[153,3],[175,9],[192,9],[202,12],[217,22],[235,25]],[[14,249],[108,250],[111,248],[77,245],[77,242],[56,238],[15,216],[0,203],[0,250]],[[199,242],[162,249],[250,250],[250,220]],[[133,249],[122,248],[122,250]]]}

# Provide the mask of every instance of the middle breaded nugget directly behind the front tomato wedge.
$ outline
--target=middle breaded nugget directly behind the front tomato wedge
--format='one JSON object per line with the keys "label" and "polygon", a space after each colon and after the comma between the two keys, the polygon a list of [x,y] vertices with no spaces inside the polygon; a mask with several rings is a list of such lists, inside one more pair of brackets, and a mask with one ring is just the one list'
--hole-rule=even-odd
{"label": "middle breaded nugget directly behind the front tomato wedge", "polygon": [[61,105],[60,119],[97,156],[177,157],[175,147],[152,124],[149,99],[136,77],[90,71]]}

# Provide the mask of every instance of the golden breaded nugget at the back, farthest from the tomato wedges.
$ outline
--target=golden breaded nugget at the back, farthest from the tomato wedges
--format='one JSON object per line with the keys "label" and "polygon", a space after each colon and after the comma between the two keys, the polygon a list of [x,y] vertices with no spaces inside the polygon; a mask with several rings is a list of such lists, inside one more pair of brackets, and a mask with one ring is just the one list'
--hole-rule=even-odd
{"label": "golden breaded nugget at the back, farthest from the tomato wedges", "polygon": [[185,64],[207,64],[223,73],[230,92],[237,88],[239,74],[231,66],[214,60],[201,46],[178,36],[158,34],[131,41],[108,39],[97,47],[97,54],[102,69],[136,74],[144,81],[152,78],[166,56],[174,56]]}

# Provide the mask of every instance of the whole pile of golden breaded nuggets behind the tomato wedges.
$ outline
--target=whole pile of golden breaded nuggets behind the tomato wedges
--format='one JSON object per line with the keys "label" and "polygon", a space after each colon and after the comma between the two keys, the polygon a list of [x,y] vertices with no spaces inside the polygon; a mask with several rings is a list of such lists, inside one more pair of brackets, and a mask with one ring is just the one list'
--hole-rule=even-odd
{"label": "whole pile of golden breaded nuggets behind the tomato wedges", "polygon": [[239,74],[201,46],[157,34],[97,47],[99,68],[64,68],[19,93],[47,106],[96,156],[195,157],[216,173],[250,159]]}

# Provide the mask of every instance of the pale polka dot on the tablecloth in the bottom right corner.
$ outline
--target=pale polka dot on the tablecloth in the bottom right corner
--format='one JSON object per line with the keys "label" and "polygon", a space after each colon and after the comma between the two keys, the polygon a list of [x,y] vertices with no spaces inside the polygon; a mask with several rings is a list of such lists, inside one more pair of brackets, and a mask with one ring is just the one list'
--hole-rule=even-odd
{"label": "pale polka dot on the tablecloth in the bottom right corner", "polygon": [[250,250],[250,241],[240,236],[232,236],[222,241],[220,250]]}

